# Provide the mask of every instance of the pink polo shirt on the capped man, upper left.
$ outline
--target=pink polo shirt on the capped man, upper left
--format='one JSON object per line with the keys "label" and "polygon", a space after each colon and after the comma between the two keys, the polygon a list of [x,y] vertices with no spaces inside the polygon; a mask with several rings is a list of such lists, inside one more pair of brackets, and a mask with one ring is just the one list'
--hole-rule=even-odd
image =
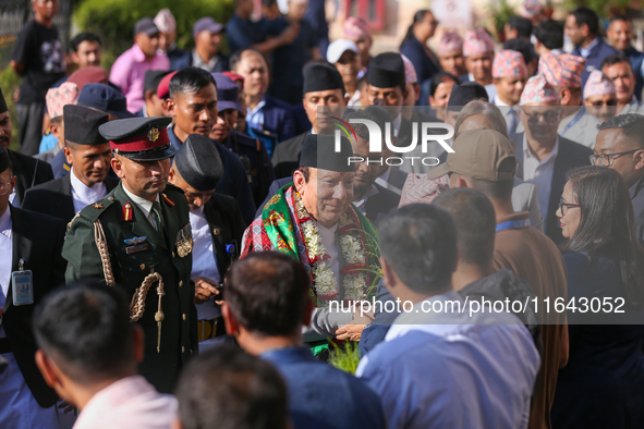
{"label": "pink polo shirt on the capped man, upper left", "polygon": [[123,95],[127,98],[127,110],[132,113],[136,113],[145,105],[143,84],[145,72],[148,70],[170,70],[168,56],[157,53],[155,58],[148,60],[138,45],[134,44],[114,61],[110,71],[110,82],[121,87]]}

